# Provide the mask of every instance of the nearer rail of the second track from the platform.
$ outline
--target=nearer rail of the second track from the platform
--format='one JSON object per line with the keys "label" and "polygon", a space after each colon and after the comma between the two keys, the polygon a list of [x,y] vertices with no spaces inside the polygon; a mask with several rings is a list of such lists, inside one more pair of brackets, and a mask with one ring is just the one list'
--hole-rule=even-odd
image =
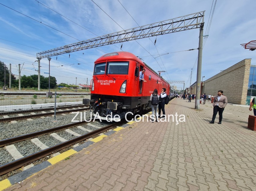
{"label": "nearer rail of the second track from the platform", "polygon": [[[56,114],[64,114],[64,113],[69,113],[69,112],[74,112],[74,111],[83,111],[83,110],[88,110],[88,109],[89,108],[81,108],[81,109],[73,109],[73,110],[66,110],[66,111],[56,111]],[[24,116],[19,116],[19,117],[2,118],[2,119],[0,119],[0,122],[29,119],[29,118],[34,118],[34,117],[48,116],[48,115],[54,115],[54,112],[45,113],[45,114],[34,114],[34,115],[24,115]]]}

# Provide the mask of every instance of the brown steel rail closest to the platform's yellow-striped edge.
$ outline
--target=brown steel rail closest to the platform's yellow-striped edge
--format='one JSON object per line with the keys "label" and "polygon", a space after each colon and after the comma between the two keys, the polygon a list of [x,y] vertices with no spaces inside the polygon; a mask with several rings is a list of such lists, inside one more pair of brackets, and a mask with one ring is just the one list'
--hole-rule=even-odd
{"label": "brown steel rail closest to the platform's yellow-striped edge", "polygon": [[7,164],[1,165],[0,166],[0,176],[4,175],[6,173],[9,173],[12,170],[16,170],[16,169],[24,166],[25,164],[29,164],[31,162],[34,162],[34,161],[38,160],[38,159],[42,159],[43,157],[48,156],[51,153],[58,152],[58,151],[66,148],[66,147],[69,147],[69,146],[74,145],[74,144],[76,144],[78,142],[84,141],[84,140],[86,140],[86,139],[88,139],[88,138],[90,138],[92,136],[98,135],[99,133],[107,131],[108,129],[111,129],[111,128],[115,127],[115,126],[121,125],[124,122],[126,122],[126,121],[125,120],[121,120],[120,122],[117,122],[117,123],[114,123],[114,124],[111,124],[111,125],[107,125],[106,127],[97,129],[95,131],[92,131],[90,133],[81,135],[81,136],[73,138],[73,139],[70,139],[70,140],[65,141],[63,143],[60,143],[58,145],[54,145],[54,146],[49,147],[47,149],[38,151],[38,152],[36,152],[34,154],[25,156],[25,157],[23,157],[21,159],[17,159],[17,160],[15,160],[13,162],[9,162]]}

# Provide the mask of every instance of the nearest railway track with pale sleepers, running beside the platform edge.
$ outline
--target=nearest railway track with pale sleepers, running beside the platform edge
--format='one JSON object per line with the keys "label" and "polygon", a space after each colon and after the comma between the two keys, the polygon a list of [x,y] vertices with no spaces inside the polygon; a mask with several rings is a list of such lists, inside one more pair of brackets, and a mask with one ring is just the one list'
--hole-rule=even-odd
{"label": "nearest railway track with pale sleepers, running beside the platform edge", "polygon": [[[104,125],[104,126],[103,127],[96,126],[95,124],[97,124],[97,123],[100,125]],[[25,135],[21,135],[21,136],[16,136],[16,137],[9,138],[9,139],[0,140],[0,147],[5,148],[7,150],[9,148],[10,148],[10,150],[17,150],[17,148],[16,148],[17,145],[16,146],[14,145],[15,143],[16,144],[22,143],[24,141],[27,142],[29,140],[35,144],[35,147],[41,148],[39,151],[33,152],[32,154],[29,154],[28,156],[23,157],[22,154],[18,154],[18,156],[20,156],[20,158],[17,158],[17,155],[14,156],[15,153],[11,153],[9,150],[8,152],[10,152],[11,155],[13,156],[13,158],[16,160],[9,162],[7,164],[1,165],[0,166],[0,176],[5,175],[6,173],[11,172],[12,170],[16,170],[22,166],[25,166],[26,164],[30,164],[39,159],[42,159],[43,157],[49,156],[52,153],[56,153],[62,149],[65,149],[66,147],[69,147],[69,146],[75,145],[79,142],[85,141],[86,139],[89,139],[90,137],[98,135],[104,131],[107,131],[107,130],[109,130],[113,127],[116,127],[118,125],[121,125],[123,123],[125,123],[124,120],[110,124],[110,125],[109,125],[109,123],[104,124],[104,123],[94,122],[94,125],[93,125],[92,123],[83,121],[83,122],[76,122],[76,123],[72,123],[72,124],[62,125],[62,126],[54,127],[51,129],[46,129],[43,131],[29,133],[29,134],[25,134]],[[81,125],[83,125],[84,127],[82,127]],[[91,128],[89,129],[88,126],[90,126]],[[70,128],[80,128],[80,130],[84,131],[84,134],[75,133],[74,131],[70,130]],[[75,136],[75,138],[72,138],[69,140],[66,140],[64,138],[61,139],[60,136],[58,136],[58,135],[56,136],[56,133],[54,133],[54,132],[60,132],[59,134],[61,134],[61,131],[65,131],[65,133],[71,133],[73,136]],[[45,136],[45,135],[52,136],[55,139],[60,140],[61,143],[55,144],[50,147],[46,146],[45,144],[41,144],[41,146],[39,146],[39,144],[40,144],[39,139],[43,139],[42,136]]]}

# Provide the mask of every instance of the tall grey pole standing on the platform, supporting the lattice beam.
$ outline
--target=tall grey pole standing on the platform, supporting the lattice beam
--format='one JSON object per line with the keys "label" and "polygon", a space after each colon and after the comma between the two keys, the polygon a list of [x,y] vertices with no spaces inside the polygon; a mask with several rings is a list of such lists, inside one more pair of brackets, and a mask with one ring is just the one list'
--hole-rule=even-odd
{"label": "tall grey pole standing on the platform, supporting the lattice beam", "polygon": [[202,72],[203,33],[204,33],[204,24],[201,25],[200,32],[199,32],[195,109],[200,109],[200,91],[201,91],[200,85],[201,85],[201,72]]}

